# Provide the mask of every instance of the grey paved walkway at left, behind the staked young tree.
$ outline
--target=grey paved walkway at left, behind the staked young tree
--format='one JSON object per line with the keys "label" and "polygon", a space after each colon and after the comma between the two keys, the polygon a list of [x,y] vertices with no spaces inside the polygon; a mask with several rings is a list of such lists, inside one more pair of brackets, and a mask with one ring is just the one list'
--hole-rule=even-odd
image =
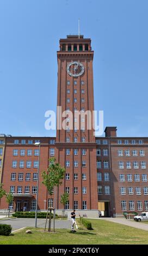
{"label": "grey paved walkway at left, behind the staked young tree", "polygon": [[[46,219],[38,219],[37,226],[38,228],[44,228],[45,227]],[[35,227],[35,219],[32,218],[15,218],[15,219],[9,219],[9,220],[0,220],[0,224],[10,224],[14,230],[23,228],[23,227]],[[66,228],[70,229],[70,221],[63,221],[63,220],[55,220],[55,228]],[[47,221],[48,226],[48,221]],[[46,227],[47,227],[46,226]],[[53,220],[51,223],[51,227],[53,228]]]}

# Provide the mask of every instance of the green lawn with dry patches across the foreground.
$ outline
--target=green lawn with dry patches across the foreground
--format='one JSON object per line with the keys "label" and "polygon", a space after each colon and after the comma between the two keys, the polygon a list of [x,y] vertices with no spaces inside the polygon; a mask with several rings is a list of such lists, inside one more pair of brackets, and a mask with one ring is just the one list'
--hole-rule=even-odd
{"label": "green lawn with dry patches across the foreground", "polygon": [[78,222],[77,233],[67,229],[56,229],[55,233],[44,232],[43,229],[30,228],[33,234],[26,234],[26,229],[10,236],[0,236],[0,244],[4,245],[118,245],[118,244],[148,244],[148,233],[105,220],[90,220],[94,230],[87,230]]}

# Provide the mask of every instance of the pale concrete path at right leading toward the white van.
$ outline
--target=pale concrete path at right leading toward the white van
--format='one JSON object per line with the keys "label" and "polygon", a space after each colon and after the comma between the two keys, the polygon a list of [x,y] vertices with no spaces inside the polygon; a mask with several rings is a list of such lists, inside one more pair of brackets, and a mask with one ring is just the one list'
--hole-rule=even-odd
{"label": "pale concrete path at right leading toward the white van", "polygon": [[119,224],[127,225],[129,227],[139,228],[139,229],[143,229],[143,230],[148,231],[148,222],[146,224],[146,223],[143,223],[142,221],[141,222],[128,221],[128,220],[126,220],[126,218],[105,218],[105,217],[104,218],[98,218],[97,220],[111,221],[111,222],[114,222],[114,223],[119,223]]}

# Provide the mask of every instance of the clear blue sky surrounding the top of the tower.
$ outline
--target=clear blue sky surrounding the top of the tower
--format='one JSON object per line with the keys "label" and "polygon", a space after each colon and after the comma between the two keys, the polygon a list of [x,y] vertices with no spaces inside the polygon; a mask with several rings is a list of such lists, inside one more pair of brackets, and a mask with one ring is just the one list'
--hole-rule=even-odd
{"label": "clear blue sky surrounding the top of the tower", "polygon": [[91,38],[95,109],[118,136],[147,136],[147,0],[0,0],[0,133],[53,136],[59,39]]}

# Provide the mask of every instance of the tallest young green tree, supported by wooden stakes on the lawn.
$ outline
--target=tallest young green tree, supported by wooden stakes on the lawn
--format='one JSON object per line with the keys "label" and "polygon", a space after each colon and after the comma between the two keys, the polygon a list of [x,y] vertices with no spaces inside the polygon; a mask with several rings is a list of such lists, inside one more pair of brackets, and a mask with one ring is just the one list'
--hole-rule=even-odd
{"label": "tallest young green tree, supported by wooden stakes on the lawn", "polygon": [[[50,202],[54,187],[61,185],[64,179],[65,168],[61,167],[59,163],[55,163],[55,157],[52,157],[49,161],[47,172],[42,173],[42,183],[47,187],[48,193],[50,194]],[[51,207],[50,207],[51,208]],[[51,210],[48,231],[51,230]]]}

